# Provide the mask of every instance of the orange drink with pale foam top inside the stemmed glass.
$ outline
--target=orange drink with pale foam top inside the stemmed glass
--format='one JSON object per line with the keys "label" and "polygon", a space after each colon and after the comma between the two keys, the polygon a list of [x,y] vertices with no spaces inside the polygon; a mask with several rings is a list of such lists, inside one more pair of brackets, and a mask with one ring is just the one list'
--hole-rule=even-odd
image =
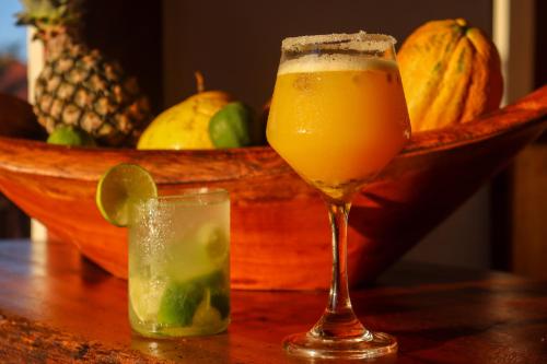
{"label": "orange drink with pale foam top inside the stemmed glass", "polygon": [[281,61],[267,136],[310,184],[349,200],[410,137],[397,63],[344,54]]}

